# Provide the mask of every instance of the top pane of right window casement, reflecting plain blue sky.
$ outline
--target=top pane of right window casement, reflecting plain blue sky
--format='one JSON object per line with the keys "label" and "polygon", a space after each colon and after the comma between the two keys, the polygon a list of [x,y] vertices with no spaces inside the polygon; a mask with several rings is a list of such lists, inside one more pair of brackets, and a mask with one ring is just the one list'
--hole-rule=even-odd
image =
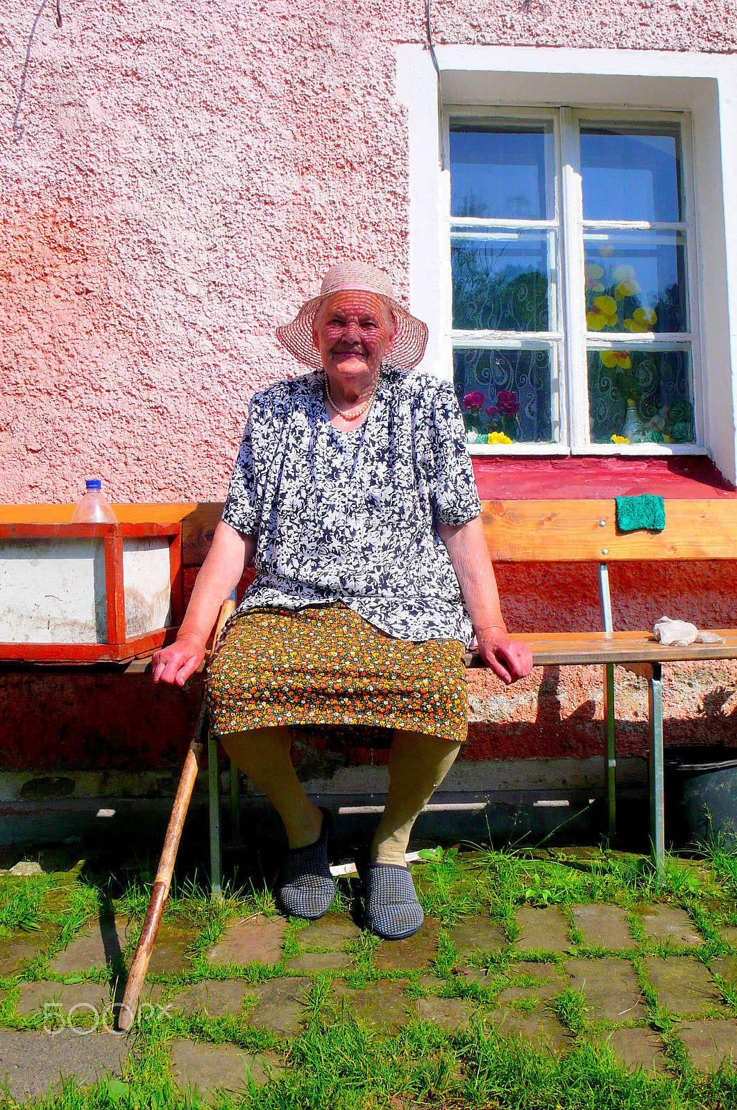
{"label": "top pane of right window casement, reflecting plain blue sky", "polygon": [[683,219],[678,128],[582,127],[584,220]]}

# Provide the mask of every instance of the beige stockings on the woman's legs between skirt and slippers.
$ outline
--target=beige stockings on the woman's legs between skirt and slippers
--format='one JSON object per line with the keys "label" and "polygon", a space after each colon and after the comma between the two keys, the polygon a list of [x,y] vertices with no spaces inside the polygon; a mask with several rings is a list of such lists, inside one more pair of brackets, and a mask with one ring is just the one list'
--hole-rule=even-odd
{"label": "beige stockings on the woman's legs between skirt and slippers", "polygon": [[[307,798],[290,758],[289,728],[229,733],[221,743],[233,763],[266,795],[284,821],[290,848],[320,837],[322,815]],[[455,761],[458,744],[437,736],[397,730],[388,757],[386,804],[371,846],[371,859],[404,864],[415,819]]]}

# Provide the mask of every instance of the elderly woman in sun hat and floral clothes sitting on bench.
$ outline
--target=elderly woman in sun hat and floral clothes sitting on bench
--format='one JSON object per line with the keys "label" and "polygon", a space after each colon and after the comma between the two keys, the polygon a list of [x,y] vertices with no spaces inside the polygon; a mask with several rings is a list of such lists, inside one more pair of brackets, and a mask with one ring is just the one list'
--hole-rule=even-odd
{"label": "elderly woman in sun hat and floral clothes sitting on bench", "polygon": [[335,894],[330,814],[296,777],[293,731],[367,726],[391,749],[362,868],[365,915],[378,936],[401,939],[423,920],[404,858],[410,833],[466,738],[464,649],[475,633],[506,684],[529,674],[532,654],[502,617],[453,387],[407,373],[427,329],[386,275],[334,266],[276,335],[311,372],[253,397],[223,518],[153,679],[181,685],[196,669],[253,561],[255,581],[210,667],[208,705],[223,747],[284,821],[279,901],[314,919]]}

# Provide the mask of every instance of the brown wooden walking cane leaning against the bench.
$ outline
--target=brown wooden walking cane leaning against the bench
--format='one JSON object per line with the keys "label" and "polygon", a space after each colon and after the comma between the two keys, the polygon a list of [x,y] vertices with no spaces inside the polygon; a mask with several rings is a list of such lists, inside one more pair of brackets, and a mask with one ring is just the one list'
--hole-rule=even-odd
{"label": "brown wooden walking cane leaning against the bench", "polygon": [[[225,622],[231,616],[234,608],[235,603],[231,601],[231,598],[223,602],[218,617],[218,624],[215,625],[215,634],[212,638],[212,652],[215,650]],[[186,810],[189,809],[192,790],[194,789],[194,783],[198,777],[200,759],[202,758],[202,753],[204,750],[206,720],[208,707],[203,697],[202,708],[200,709],[198,725],[194,730],[194,737],[190,744],[190,749],[186,753],[182,776],[179,780],[179,786],[176,787],[176,797],[174,798],[174,805],[172,807],[169,825],[166,827],[164,847],[161,852],[159,869],[157,871],[153,889],[151,891],[151,901],[149,902],[149,908],[143,920],[141,936],[135,949],[135,955],[133,956],[131,971],[125,985],[125,993],[123,995],[123,1001],[118,1016],[118,1028],[121,1029],[122,1032],[128,1032],[133,1025],[138,1001],[141,996],[141,989],[143,988],[143,980],[145,979],[145,973],[149,970],[149,962],[151,960],[151,953],[153,952],[153,946],[157,942],[157,934],[159,931],[159,926],[161,925],[161,916],[164,911],[164,902],[166,901],[166,897],[169,895],[171,877],[174,870],[176,849],[179,848],[179,841],[182,837],[184,818],[186,817]]]}

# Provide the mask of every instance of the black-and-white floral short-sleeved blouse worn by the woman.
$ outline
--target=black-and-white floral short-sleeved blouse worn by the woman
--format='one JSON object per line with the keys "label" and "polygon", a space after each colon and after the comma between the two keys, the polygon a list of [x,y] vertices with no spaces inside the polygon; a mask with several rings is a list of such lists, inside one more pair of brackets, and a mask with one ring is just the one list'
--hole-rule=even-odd
{"label": "black-and-white floral short-sleeved blouse worn by the woman", "polygon": [[481,513],[453,386],[382,366],[354,432],[333,427],[323,371],[251,401],[223,519],[258,541],[239,613],[342,602],[397,639],[468,644],[435,524]]}

